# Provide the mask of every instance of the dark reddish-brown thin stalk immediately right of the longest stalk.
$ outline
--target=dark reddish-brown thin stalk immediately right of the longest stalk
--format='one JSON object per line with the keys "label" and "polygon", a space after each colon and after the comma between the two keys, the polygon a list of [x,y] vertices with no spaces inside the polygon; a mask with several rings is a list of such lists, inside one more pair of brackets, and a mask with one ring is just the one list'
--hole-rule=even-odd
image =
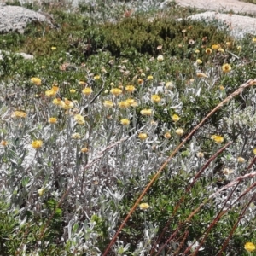
{"label": "dark reddish-brown thin stalk immediately right of the longest stalk", "polygon": [[[194,177],[194,179],[193,179],[193,182],[188,185],[188,187],[187,187],[187,189],[186,189],[186,192],[185,192],[185,195],[187,195],[187,194],[189,193],[190,189],[193,188],[193,186],[194,186],[196,180],[197,180],[199,177],[201,177],[201,173],[204,172],[204,171],[207,169],[207,167],[210,165],[210,163],[211,163],[213,160],[215,160],[215,159],[217,158],[217,156],[218,156],[219,154],[221,154],[227,147],[229,147],[231,143],[232,143],[232,142],[227,143],[226,145],[224,145],[224,147],[218,149],[218,151],[217,151],[215,154],[213,154],[212,157],[211,157],[209,160],[207,160],[207,162],[205,163],[205,165],[201,167],[201,170],[195,174],[195,177]],[[166,232],[166,230],[167,230],[167,227],[168,227],[169,224],[171,223],[173,216],[176,214],[177,209],[178,209],[178,208],[180,207],[180,205],[183,203],[184,199],[185,199],[185,196],[183,195],[183,196],[181,197],[181,199],[177,202],[177,205],[174,207],[174,211],[172,212],[172,216],[168,219],[168,221],[167,221],[167,223],[166,223],[166,226],[164,227],[164,229],[163,229],[163,231],[161,232],[160,236],[158,237],[157,241],[154,242],[154,246],[153,246],[153,248],[152,248],[152,250],[151,250],[150,256],[153,255],[153,253],[154,253],[154,248],[156,247],[157,244],[160,243],[160,240],[161,240],[162,236],[164,236],[164,234],[165,234],[165,232]]]}

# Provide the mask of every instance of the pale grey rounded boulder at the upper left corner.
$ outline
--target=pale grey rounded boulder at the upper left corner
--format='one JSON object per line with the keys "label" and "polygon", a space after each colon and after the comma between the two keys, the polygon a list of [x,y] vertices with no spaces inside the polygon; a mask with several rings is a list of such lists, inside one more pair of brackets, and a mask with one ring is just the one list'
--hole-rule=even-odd
{"label": "pale grey rounded boulder at the upper left corner", "polygon": [[0,5],[0,33],[23,33],[26,25],[31,22],[46,22],[53,26],[49,15],[20,6]]}

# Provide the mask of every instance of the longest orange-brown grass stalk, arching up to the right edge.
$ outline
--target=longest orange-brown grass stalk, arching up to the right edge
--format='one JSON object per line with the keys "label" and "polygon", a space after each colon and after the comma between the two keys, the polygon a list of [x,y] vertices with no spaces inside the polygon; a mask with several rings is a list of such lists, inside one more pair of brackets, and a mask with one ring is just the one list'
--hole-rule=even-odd
{"label": "longest orange-brown grass stalk, arching up to the right edge", "polygon": [[123,223],[119,226],[119,229],[117,230],[117,232],[115,233],[115,235],[113,236],[112,240],[110,241],[110,243],[108,244],[108,247],[105,249],[105,252],[102,254],[102,256],[107,256],[108,251],[110,250],[110,248],[113,246],[113,243],[116,241],[117,237],[119,236],[120,231],[125,227],[126,222],[128,221],[128,219],[131,217],[131,214],[136,210],[139,202],[143,199],[143,196],[148,192],[148,189],[152,186],[152,184],[154,183],[154,181],[156,180],[156,178],[160,175],[160,172],[162,172],[165,167],[167,166],[168,162],[172,159],[172,157],[179,151],[180,148],[183,147],[183,144],[186,143],[190,137],[192,137],[195,133],[195,131],[197,131],[201,125],[203,125],[205,123],[205,121],[212,115],[212,113],[215,113],[219,108],[222,108],[224,106],[225,103],[230,102],[230,100],[232,98],[234,98],[235,96],[238,96],[239,94],[241,94],[241,92],[246,89],[247,87],[252,86],[253,84],[256,84],[256,79],[250,79],[247,81],[247,83],[242,84],[237,90],[235,90],[232,94],[230,94],[230,96],[227,96],[224,101],[220,102],[217,107],[213,108],[212,111],[210,113],[207,114],[207,116],[205,118],[203,118],[201,120],[201,122],[195,126],[195,128],[189,133],[189,135],[187,137],[185,137],[183,139],[183,142],[180,143],[177,148],[175,148],[172,152],[172,154],[167,158],[167,160],[165,161],[165,163],[160,166],[160,169],[154,174],[154,177],[151,179],[151,181],[148,183],[147,187],[143,190],[142,194],[139,196],[139,198],[137,199],[137,201],[135,202],[135,204],[133,205],[133,207],[131,207],[130,212],[128,212],[125,220],[123,221]]}

